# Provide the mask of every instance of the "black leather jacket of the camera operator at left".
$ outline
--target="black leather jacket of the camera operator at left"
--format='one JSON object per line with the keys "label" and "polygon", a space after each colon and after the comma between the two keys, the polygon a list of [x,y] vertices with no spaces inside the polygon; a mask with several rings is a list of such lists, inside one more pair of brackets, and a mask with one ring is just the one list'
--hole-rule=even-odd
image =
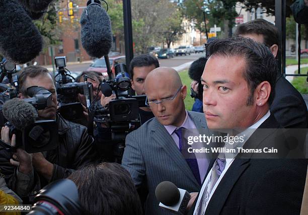
{"label": "black leather jacket of the camera operator at left", "polygon": [[[59,145],[56,149],[46,152],[46,160],[53,164],[53,174],[48,182],[34,170],[34,186],[29,191],[30,202],[37,192],[48,183],[57,179],[68,177],[77,168],[94,162],[96,153],[93,148],[93,138],[87,133],[85,126],[70,122],[57,115]],[[0,151],[0,169],[6,176],[6,181],[11,189],[16,186],[16,168],[10,165],[12,154]]]}

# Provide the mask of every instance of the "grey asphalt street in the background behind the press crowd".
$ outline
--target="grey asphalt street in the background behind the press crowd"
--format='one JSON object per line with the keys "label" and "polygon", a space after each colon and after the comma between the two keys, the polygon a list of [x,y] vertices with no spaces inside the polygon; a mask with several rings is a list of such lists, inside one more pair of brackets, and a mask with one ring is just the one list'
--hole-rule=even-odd
{"label": "grey asphalt street in the background behind the press crowd", "polygon": [[[194,61],[196,59],[198,59],[199,57],[204,56],[205,53],[193,53],[191,55],[186,55],[186,56],[176,56],[174,58],[171,59],[159,59],[160,62],[160,66],[167,66],[167,67],[177,67],[180,66],[184,63],[187,62],[191,62]],[[82,71],[85,71],[89,68],[91,63],[87,62],[87,63],[75,63],[75,64],[68,64],[66,66],[66,68],[74,73],[81,73]],[[50,67],[49,69],[52,70],[51,66],[46,66],[46,67]]]}

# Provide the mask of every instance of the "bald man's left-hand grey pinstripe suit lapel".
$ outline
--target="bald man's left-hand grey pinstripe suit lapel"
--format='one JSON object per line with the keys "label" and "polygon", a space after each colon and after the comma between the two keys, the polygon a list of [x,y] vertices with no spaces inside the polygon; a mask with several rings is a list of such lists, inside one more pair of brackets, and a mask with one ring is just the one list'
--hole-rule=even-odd
{"label": "bald man's left-hand grey pinstripe suit lapel", "polygon": [[168,133],[166,128],[157,119],[153,119],[154,124],[151,130],[152,138],[155,142],[160,144],[166,151],[169,157],[175,162],[176,165],[183,171],[183,173],[190,178],[197,186],[200,186],[195,179],[191,169],[189,168],[183,155],[180,153],[176,143],[174,142],[171,135]]}

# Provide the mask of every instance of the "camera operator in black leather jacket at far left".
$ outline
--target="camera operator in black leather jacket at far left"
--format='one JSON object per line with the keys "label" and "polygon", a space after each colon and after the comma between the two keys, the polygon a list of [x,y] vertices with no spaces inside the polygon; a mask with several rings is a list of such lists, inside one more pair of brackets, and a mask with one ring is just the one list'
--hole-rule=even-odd
{"label": "camera operator in black leather jacket at far left", "polygon": [[[88,135],[87,128],[67,121],[56,113],[56,88],[46,68],[28,66],[22,70],[19,77],[21,99],[28,97],[27,88],[32,86],[44,87],[52,93],[52,106],[39,110],[38,116],[40,119],[56,120],[59,138],[58,147],[54,150],[28,154],[22,149],[17,149],[11,159],[11,164],[18,168],[14,171],[9,185],[18,195],[30,202],[37,191],[49,182],[66,178],[74,169],[95,159],[93,138]],[[7,126],[2,129],[1,134],[5,142],[11,142]],[[14,141],[15,137],[12,137],[12,145],[16,144]]]}

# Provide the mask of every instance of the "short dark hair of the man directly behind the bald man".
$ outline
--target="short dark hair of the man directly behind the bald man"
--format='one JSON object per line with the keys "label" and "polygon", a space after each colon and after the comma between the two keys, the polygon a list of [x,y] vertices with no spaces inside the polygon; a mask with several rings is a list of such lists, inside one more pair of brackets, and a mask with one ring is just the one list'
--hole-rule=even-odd
{"label": "short dark hair of the man directly behind the bald man", "polygon": [[133,71],[134,67],[142,67],[150,65],[155,65],[155,68],[160,67],[158,59],[149,54],[141,54],[139,56],[134,57],[129,64],[129,72],[131,79],[133,79],[134,76],[134,71]]}

